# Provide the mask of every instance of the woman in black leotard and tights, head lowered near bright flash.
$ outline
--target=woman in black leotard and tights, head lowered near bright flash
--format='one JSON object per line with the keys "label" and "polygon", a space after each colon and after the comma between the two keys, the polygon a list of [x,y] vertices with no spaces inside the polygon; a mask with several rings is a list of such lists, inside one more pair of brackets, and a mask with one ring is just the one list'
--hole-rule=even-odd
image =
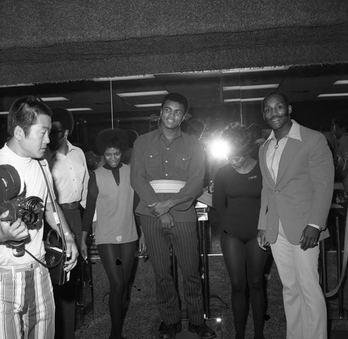
{"label": "woman in black leotard and tights, head lowered near bright flash", "polygon": [[246,287],[250,290],[255,339],[262,339],[264,292],[262,281],[268,253],[258,246],[258,217],[262,177],[250,157],[252,136],[244,125],[230,124],[221,134],[230,146],[228,163],[216,173],[213,205],[219,215],[221,249],[232,285],[236,339],[244,339],[247,319]]}

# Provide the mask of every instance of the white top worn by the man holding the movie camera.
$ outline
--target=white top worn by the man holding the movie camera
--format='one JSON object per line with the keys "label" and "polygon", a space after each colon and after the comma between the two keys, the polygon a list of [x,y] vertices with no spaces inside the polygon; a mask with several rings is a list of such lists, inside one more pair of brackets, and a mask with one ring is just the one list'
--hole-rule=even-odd
{"label": "white top worn by the man holding the movie camera", "polygon": [[[44,205],[47,203],[47,186],[45,182],[45,178],[42,174],[40,164],[38,160],[27,158],[27,157],[19,157],[19,155],[15,154],[10,148],[8,148],[7,144],[3,146],[0,150],[0,165],[9,164],[15,167],[19,175],[24,180],[26,185],[26,197],[29,196],[38,196],[44,202]],[[43,166],[47,178],[52,185],[52,175],[49,172],[49,166],[47,161],[42,161]],[[51,186],[53,187],[53,186]],[[23,189],[21,188],[21,191]],[[40,213],[40,222],[38,226],[35,228],[29,228],[30,237],[25,240],[25,248],[31,254],[35,256],[35,258],[42,259],[45,255],[45,246],[42,242],[43,236],[43,216],[44,208]],[[6,247],[5,244],[0,244],[0,267],[6,268],[8,266],[18,266],[18,265],[29,265],[34,263],[35,260],[31,258],[28,253],[25,253],[22,257],[15,257],[13,255],[12,249]]]}

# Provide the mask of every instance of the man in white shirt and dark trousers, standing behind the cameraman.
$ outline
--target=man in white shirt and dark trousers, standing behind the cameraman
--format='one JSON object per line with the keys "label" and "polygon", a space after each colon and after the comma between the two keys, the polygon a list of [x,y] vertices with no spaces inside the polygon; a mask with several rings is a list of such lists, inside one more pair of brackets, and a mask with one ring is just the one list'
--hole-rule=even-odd
{"label": "man in white shirt and dark trousers, standing behind the cameraman", "polygon": [[[54,180],[56,198],[79,245],[82,235],[80,205],[86,207],[89,179],[86,158],[81,148],[68,141],[74,127],[72,113],[63,108],[52,109],[52,112],[51,152],[47,152],[45,157]],[[68,283],[54,285],[56,339],[74,338],[77,278],[76,268],[71,272]]]}

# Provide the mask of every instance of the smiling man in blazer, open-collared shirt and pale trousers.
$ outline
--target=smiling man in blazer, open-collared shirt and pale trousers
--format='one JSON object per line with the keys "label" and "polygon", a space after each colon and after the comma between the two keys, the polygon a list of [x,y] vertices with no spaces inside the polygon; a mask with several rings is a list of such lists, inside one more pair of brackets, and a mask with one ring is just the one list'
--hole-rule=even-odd
{"label": "smiling man in blazer, open-collared shirt and pale trousers", "polygon": [[287,339],[326,339],[326,304],[319,285],[318,241],[333,193],[334,167],[323,134],[290,118],[283,93],[262,101],[272,132],[260,147],[262,198],[258,242],[271,244],[287,319]]}

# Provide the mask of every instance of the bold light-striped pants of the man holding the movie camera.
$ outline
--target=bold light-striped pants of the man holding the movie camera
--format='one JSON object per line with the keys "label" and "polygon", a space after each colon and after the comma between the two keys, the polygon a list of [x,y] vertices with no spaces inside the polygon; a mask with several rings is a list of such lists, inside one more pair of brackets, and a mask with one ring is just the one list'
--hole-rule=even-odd
{"label": "bold light-striped pants of the man holding the movie camera", "polygon": [[54,338],[54,297],[47,268],[0,270],[0,338]]}

